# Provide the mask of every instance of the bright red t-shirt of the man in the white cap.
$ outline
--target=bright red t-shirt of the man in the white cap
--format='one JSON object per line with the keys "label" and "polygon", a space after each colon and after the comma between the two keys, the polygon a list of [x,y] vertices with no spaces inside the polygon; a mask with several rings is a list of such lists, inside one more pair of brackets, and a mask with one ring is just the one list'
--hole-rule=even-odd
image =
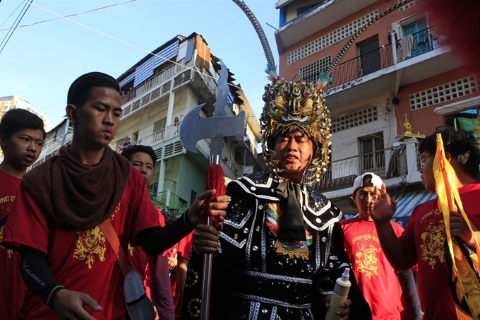
{"label": "bright red t-shirt of the man in the white cap", "polygon": [[[400,236],[403,228],[393,221],[390,223],[395,234]],[[394,268],[380,247],[375,224],[355,217],[341,220],[340,225],[356,282],[370,304],[373,319],[400,320],[403,310],[400,300],[402,288]]]}

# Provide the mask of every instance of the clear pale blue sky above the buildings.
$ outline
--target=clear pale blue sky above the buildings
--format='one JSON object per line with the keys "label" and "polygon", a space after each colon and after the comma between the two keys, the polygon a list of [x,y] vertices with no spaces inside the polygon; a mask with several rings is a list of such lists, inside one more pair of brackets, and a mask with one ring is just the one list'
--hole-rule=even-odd
{"label": "clear pale blue sky above the buildings", "polygon": [[[267,61],[253,26],[231,0],[33,0],[5,45],[26,1],[0,0],[0,97],[22,97],[53,125],[64,119],[68,88],[78,76],[101,71],[117,78],[148,52],[192,32],[234,73],[260,117]],[[276,1],[245,3],[278,64],[269,26],[278,28]]]}

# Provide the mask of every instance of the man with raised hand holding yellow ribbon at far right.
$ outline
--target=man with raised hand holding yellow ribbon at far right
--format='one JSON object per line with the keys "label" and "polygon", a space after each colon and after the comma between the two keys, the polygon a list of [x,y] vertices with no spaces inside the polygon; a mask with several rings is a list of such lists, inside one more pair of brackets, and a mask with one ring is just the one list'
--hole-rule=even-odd
{"label": "man with raised hand holding yellow ribbon at far right", "polygon": [[[437,129],[419,145],[420,160],[423,164],[421,179],[425,189],[436,192],[433,175],[433,159],[436,153],[436,134],[440,133],[445,148],[445,157],[455,170],[455,178],[465,213],[474,231],[480,227],[480,151],[476,138],[468,131],[445,127]],[[455,183],[455,182],[454,182]],[[443,214],[438,210],[437,199],[416,206],[400,237],[395,235],[390,218],[395,213],[396,203],[383,189],[380,197],[370,205],[370,215],[375,222],[383,252],[396,270],[406,270],[416,263],[421,309],[426,320],[457,319],[455,302],[450,292],[451,275],[445,256],[445,224]],[[469,247],[474,247],[474,237],[460,213],[450,211],[450,231]],[[476,232],[477,233],[477,232]],[[477,252],[478,254],[478,252]]]}

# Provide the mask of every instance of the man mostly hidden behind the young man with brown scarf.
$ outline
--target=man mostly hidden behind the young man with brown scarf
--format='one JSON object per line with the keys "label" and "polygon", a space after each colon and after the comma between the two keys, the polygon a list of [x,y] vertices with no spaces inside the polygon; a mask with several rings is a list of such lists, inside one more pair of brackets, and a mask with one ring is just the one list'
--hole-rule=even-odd
{"label": "man mostly hidden behind the young man with brown scarf", "polygon": [[[135,167],[145,178],[145,185],[150,186],[153,180],[153,168],[157,162],[157,155],[150,146],[134,145],[121,151],[132,167]],[[165,225],[165,218],[158,210],[160,225]],[[128,258],[133,268],[143,279],[148,297],[152,300],[157,314],[162,320],[174,320],[175,310],[172,300],[172,290],[169,282],[168,257],[163,254],[148,256],[139,247],[128,244]]]}

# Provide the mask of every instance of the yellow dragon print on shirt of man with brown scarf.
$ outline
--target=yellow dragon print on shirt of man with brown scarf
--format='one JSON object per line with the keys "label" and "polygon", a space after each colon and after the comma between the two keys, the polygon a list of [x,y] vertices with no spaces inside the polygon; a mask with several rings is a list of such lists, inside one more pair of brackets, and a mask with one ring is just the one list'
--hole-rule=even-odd
{"label": "yellow dragon print on shirt of man with brown scarf", "polygon": [[[109,217],[109,220],[112,221],[115,213],[120,211],[120,203],[115,208],[115,212]],[[103,234],[100,227],[96,227],[85,230],[83,232],[77,232],[78,239],[76,242],[75,251],[73,251],[73,258],[80,261],[85,261],[85,264],[89,269],[92,268],[93,263],[98,260],[100,262],[105,261],[105,251],[107,251],[107,238]]]}

